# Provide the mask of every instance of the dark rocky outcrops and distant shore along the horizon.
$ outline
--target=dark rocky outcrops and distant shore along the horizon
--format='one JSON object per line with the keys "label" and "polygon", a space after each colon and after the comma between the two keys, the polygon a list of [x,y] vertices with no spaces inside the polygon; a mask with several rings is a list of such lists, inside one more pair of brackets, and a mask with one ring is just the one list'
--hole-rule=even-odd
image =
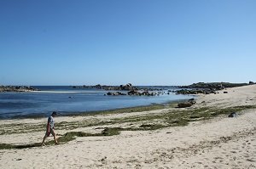
{"label": "dark rocky outcrops and distant shore along the horizon", "polygon": [[[247,85],[253,85],[254,82],[249,83],[230,83],[230,82],[198,82],[193,83],[191,85],[187,86],[175,86],[177,88],[183,88],[183,90],[177,90],[177,91],[168,91],[168,92],[174,92],[177,94],[198,94],[198,93],[214,93],[214,91],[222,90],[227,87],[242,87]],[[168,86],[148,86],[148,87],[137,87],[133,86],[131,83],[127,83],[125,85],[119,85],[119,86],[108,86],[108,85],[101,85],[97,84],[95,86],[71,86],[72,88],[94,88],[94,89],[101,89],[106,91],[129,91],[128,93],[120,93],[120,92],[108,92],[106,95],[147,95],[147,96],[154,96],[158,93],[149,93],[148,91],[161,91],[164,89],[164,87]],[[172,86],[170,86],[172,87]],[[192,90],[187,90],[185,88],[189,88]],[[0,86],[0,93],[1,92],[33,92],[33,91],[40,91],[36,87],[31,86]]]}

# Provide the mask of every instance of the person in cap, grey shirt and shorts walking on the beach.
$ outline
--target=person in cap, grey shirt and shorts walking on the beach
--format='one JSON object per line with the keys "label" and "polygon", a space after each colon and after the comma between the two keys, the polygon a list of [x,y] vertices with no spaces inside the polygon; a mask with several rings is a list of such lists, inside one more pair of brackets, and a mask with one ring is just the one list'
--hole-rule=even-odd
{"label": "person in cap, grey shirt and shorts walking on the beach", "polygon": [[44,135],[44,138],[43,138],[43,142],[42,142],[42,145],[44,146],[44,141],[46,138],[49,137],[49,134],[52,134],[53,137],[55,138],[55,144],[58,144],[57,142],[57,137],[56,137],[56,133],[55,133],[55,121],[54,121],[54,118],[55,115],[57,115],[57,112],[52,112],[52,114],[48,117],[48,122],[47,122],[47,127],[46,127],[46,132],[45,132],[45,135]]}

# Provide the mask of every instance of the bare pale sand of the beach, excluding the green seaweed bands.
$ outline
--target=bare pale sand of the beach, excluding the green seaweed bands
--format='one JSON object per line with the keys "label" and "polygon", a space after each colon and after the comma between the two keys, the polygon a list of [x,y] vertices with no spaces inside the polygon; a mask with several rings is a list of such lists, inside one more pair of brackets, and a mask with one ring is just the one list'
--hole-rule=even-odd
{"label": "bare pale sand of the beach, excluding the green seaweed bands", "polygon": [[[256,85],[228,88],[228,93],[200,95],[194,108],[225,108],[256,104]],[[171,108],[170,108],[171,109]],[[192,109],[192,108],[187,108]],[[55,118],[56,122],[96,121],[125,116],[156,115],[152,110],[119,115],[90,115]],[[0,125],[29,123],[45,125],[47,119],[0,121]],[[124,127],[131,124],[115,124]],[[101,127],[72,131],[97,132]],[[58,130],[65,133],[69,129]],[[0,135],[1,144],[40,142],[44,132]],[[48,140],[53,138],[48,138]],[[0,168],[256,168],[256,110],[242,110],[235,118],[226,115],[184,127],[153,131],[124,131],[110,137],[76,138],[67,144],[31,149],[0,150]]]}

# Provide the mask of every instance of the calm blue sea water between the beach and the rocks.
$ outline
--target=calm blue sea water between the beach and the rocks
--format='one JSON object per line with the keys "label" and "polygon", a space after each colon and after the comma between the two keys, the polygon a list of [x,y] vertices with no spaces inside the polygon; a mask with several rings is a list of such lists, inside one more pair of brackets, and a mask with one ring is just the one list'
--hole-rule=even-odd
{"label": "calm blue sea water between the beach and the rocks", "polygon": [[[160,96],[104,96],[109,91],[73,87],[37,87],[38,92],[0,93],[0,119],[45,116],[52,111],[62,115],[86,113],[96,110],[113,110],[149,104],[164,104],[192,96],[175,93]],[[159,87],[155,87],[159,88]],[[175,87],[163,87],[176,90]],[[124,91],[122,91],[124,93]]]}

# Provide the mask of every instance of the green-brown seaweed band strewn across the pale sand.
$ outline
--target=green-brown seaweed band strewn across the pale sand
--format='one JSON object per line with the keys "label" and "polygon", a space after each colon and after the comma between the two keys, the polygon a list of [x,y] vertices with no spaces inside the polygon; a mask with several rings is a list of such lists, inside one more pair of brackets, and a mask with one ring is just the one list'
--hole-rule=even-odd
{"label": "green-brown seaweed band strewn across the pale sand", "polygon": [[[164,127],[182,127],[189,124],[190,121],[203,121],[214,118],[214,116],[218,115],[229,115],[232,112],[240,112],[241,110],[255,109],[255,105],[244,105],[244,106],[236,106],[229,107],[223,109],[204,107],[198,109],[187,109],[187,110],[168,110],[165,113],[154,114],[154,115],[142,115],[142,116],[128,116],[111,119],[110,121],[91,121],[90,122],[61,122],[56,123],[56,126],[60,124],[58,128],[79,128],[79,127],[91,127],[98,126],[101,127],[103,125],[113,125],[113,124],[123,124],[123,123],[131,123],[135,124],[136,127],[105,127],[102,132],[98,133],[88,133],[88,132],[67,132],[61,137],[58,138],[58,141],[61,144],[66,144],[70,141],[75,140],[78,137],[111,137],[115,135],[119,135],[121,131],[150,131],[150,130],[158,130]],[[139,124],[139,125],[138,125]],[[25,124],[26,126],[22,126],[21,124],[10,124],[8,127],[25,129],[25,131],[35,132],[37,130],[41,130],[39,125],[30,126]],[[7,127],[7,126],[3,126]],[[0,125],[1,127],[1,125]],[[31,129],[31,130],[30,130]],[[2,134],[9,133],[17,133],[13,131],[2,132]],[[19,133],[19,132],[18,132]],[[22,130],[20,131],[22,132]],[[48,146],[54,145],[55,142],[49,141],[46,143]],[[0,149],[30,149],[35,147],[41,147],[40,143],[35,144],[23,144],[23,145],[15,145],[15,144],[0,144]]]}

